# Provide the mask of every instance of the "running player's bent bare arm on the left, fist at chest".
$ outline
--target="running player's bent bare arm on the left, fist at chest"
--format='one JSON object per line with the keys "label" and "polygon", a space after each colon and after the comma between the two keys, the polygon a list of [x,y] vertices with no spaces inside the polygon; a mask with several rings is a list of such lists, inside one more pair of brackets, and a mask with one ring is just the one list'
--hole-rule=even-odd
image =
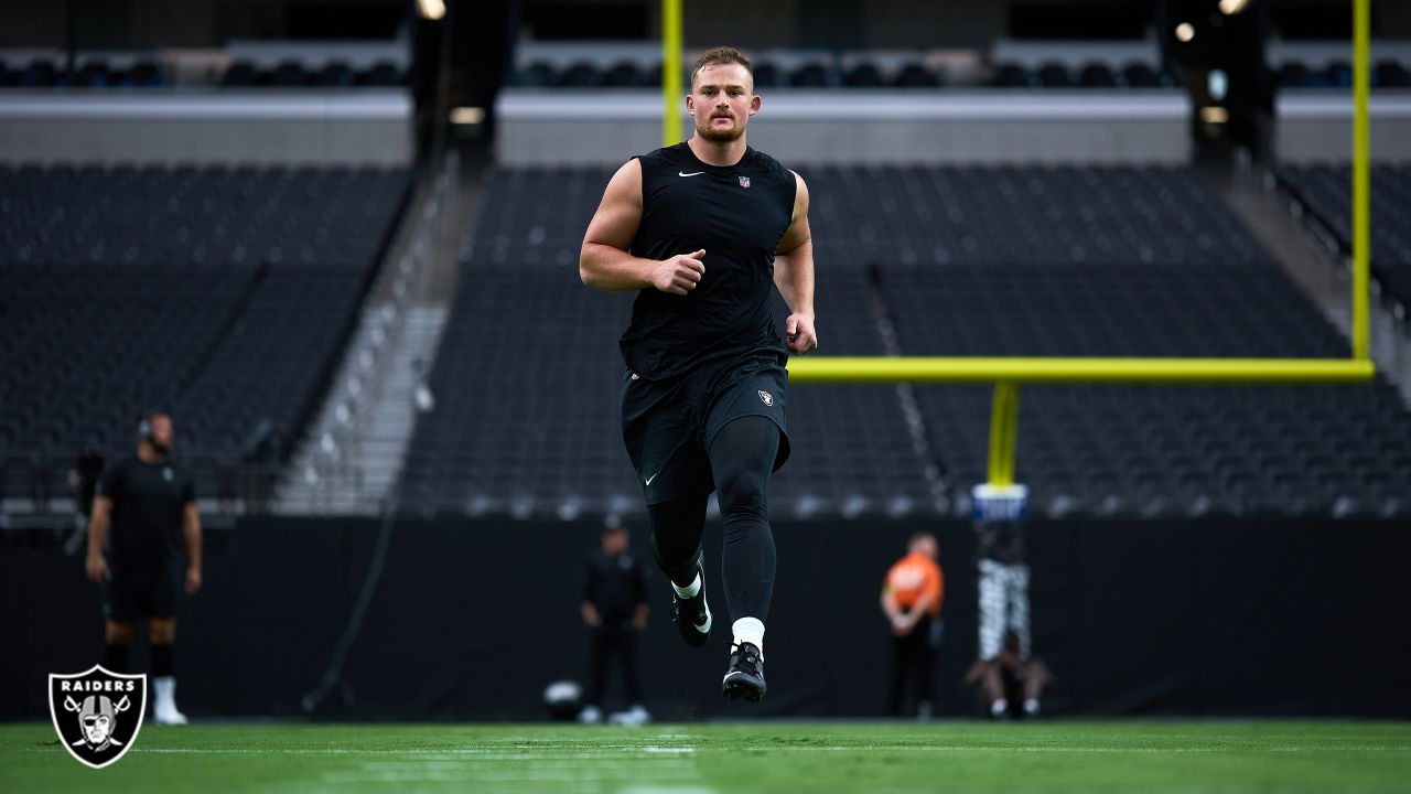
{"label": "running player's bent bare arm on the left, fist at chest", "polygon": [[579,277],[594,290],[629,292],[656,288],[686,295],[706,275],[706,250],[667,260],[635,257],[628,253],[642,223],[642,164],[629,160],[618,168],[602,192],[602,203],[588,222],[579,254]]}

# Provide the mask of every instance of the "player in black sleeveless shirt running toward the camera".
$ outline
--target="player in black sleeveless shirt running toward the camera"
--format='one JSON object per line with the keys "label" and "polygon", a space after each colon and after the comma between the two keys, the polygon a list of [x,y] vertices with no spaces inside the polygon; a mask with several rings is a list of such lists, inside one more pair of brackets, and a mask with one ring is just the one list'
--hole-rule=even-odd
{"label": "player in black sleeveless shirt running toward the camera", "polygon": [[[672,619],[689,646],[711,629],[700,558],[714,490],[732,643],[722,691],[765,697],[765,617],[775,540],[765,489],[789,458],[789,353],[818,346],[809,189],[745,144],[759,112],[749,59],[707,51],[686,110],[696,134],[629,160],[608,182],[579,259],[583,283],[636,291],[622,335],[622,437],[652,517]],[[790,315],[780,335],[775,288]]]}

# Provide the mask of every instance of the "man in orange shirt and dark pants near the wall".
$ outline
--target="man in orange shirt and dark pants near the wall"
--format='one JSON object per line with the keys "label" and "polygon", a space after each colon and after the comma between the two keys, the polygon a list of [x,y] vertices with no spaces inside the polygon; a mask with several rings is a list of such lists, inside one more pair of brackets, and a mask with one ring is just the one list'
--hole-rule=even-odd
{"label": "man in orange shirt and dark pants near the wall", "polygon": [[907,541],[882,583],[882,612],[892,624],[892,695],[889,712],[903,715],[907,682],[916,678],[916,711],[931,716],[931,660],[941,644],[941,599],[945,576],[937,564],[938,544],[930,533]]}

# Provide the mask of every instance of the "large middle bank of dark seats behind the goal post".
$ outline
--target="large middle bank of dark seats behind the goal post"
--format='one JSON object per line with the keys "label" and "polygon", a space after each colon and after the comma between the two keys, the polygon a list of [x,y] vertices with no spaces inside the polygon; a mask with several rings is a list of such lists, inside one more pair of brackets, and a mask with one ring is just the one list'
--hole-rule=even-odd
{"label": "large middle bank of dark seats behind the goal post", "polygon": [[[828,355],[1340,357],[1346,340],[1171,167],[807,167]],[[610,171],[495,168],[402,472],[454,514],[641,510],[618,429],[629,298],[579,283]],[[1400,206],[1407,206],[1401,201]],[[555,316],[556,324],[538,318]],[[559,329],[571,328],[571,333]],[[571,389],[563,384],[573,384]],[[796,386],[779,514],[951,509],[985,478],[992,391]],[[1405,514],[1411,413],[1373,386],[1044,386],[1019,476],[1053,514]],[[948,502],[937,503],[935,497]]]}

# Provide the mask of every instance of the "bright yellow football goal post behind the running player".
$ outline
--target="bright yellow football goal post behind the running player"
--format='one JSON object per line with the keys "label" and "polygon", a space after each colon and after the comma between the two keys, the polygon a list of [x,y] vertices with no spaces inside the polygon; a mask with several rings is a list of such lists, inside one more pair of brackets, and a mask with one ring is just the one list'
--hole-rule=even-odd
{"label": "bright yellow football goal post behind the running player", "polygon": [[[682,1],[662,0],[662,144],[682,140]],[[1019,391],[1024,383],[1335,384],[1370,383],[1371,0],[1353,0],[1352,355],[1348,359],[809,356],[794,383],[993,383],[988,486],[1013,489]]]}

